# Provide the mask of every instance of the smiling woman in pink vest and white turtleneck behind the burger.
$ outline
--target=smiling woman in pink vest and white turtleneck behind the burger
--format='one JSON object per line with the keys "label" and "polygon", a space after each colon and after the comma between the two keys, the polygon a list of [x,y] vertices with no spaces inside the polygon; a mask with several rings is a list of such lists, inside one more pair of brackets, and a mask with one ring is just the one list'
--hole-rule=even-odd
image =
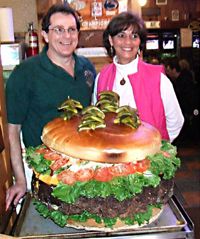
{"label": "smiling woman in pink vest and white turtleneck behind the burger", "polygon": [[93,102],[103,90],[120,96],[120,105],[137,108],[140,119],[154,125],[171,142],[184,122],[173,86],[160,65],[139,57],[146,38],[144,22],[131,12],[114,17],[103,34],[104,46],[113,63],[105,66],[95,82]]}

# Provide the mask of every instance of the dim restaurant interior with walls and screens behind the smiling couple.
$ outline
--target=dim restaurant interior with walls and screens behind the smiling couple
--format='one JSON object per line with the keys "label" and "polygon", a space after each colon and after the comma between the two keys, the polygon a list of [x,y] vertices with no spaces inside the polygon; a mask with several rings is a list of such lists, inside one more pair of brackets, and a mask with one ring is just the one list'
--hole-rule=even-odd
{"label": "dim restaurant interior with walls and screens behind the smiling couple", "polygon": [[[14,237],[13,228],[18,218],[13,211],[5,212],[5,192],[13,181],[4,89],[14,67],[27,57],[38,54],[43,48],[44,43],[40,34],[41,20],[51,5],[70,4],[76,9],[81,20],[81,33],[76,52],[88,57],[95,65],[97,72],[111,62],[102,43],[102,34],[109,20],[122,11],[136,12],[144,20],[147,29],[146,45],[142,56],[144,61],[162,64],[166,59],[173,57],[186,59],[194,75],[196,94],[200,95],[199,0],[118,0],[113,1],[117,3],[117,7],[109,10],[109,14],[105,9],[105,2],[107,1],[0,0],[0,235],[2,235],[0,238]],[[96,8],[93,9],[97,6],[96,3],[99,3],[100,12]],[[31,53],[28,52],[30,31],[36,36]],[[155,59],[158,63],[153,63]],[[188,129],[174,142],[181,159],[181,167],[175,176],[175,194],[183,214],[189,218],[192,231],[185,235],[178,235],[176,238],[200,239],[199,111],[200,98],[193,110]],[[163,234],[161,237],[146,235],[141,238],[175,237]]]}

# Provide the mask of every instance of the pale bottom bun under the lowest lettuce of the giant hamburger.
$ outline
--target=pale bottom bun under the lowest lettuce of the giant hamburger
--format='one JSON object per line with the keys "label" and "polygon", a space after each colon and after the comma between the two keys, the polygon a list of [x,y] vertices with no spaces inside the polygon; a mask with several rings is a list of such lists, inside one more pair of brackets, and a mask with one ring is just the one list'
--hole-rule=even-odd
{"label": "pale bottom bun under the lowest lettuce of the giant hamburger", "polygon": [[112,228],[105,227],[104,223],[97,223],[94,219],[88,219],[86,222],[78,222],[74,220],[68,220],[66,226],[73,227],[76,229],[84,229],[86,231],[102,231],[102,232],[114,232],[114,231],[122,231],[122,230],[132,230],[137,229],[139,227],[143,227],[145,225],[149,225],[150,223],[154,222],[158,219],[158,217],[163,212],[164,206],[161,208],[153,208],[152,217],[150,218],[149,222],[143,223],[141,225],[133,224],[127,225],[120,219],[117,219],[117,222]]}

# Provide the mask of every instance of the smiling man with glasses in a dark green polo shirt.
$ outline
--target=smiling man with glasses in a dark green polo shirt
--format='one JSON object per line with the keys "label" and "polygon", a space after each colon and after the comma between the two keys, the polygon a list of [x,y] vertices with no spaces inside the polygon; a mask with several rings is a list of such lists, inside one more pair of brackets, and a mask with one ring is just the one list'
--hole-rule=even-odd
{"label": "smiling man with glasses in a dark green polo shirt", "polygon": [[6,86],[8,134],[15,183],[7,190],[6,209],[17,205],[26,192],[21,152],[41,144],[43,126],[59,116],[57,107],[67,98],[91,102],[95,69],[88,59],[77,56],[80,23],[73,9],[53,5],[42,21],[43,51],[28,58],[12,72]]}

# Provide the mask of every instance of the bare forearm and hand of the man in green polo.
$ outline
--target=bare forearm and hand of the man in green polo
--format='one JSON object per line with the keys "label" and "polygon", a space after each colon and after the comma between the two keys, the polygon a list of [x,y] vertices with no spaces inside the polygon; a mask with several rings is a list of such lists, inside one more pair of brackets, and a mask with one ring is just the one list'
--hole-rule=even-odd
{"label": "bare forearm and hand of the man in green polo", "polygon": [[14,172],[15,182],[6,193],[6,210],[12,201],[16,206],[26,193],[26,177],[22,161],[22,150],[20,141],[21,125],[8,124],[8,138],[10,144],[11,165]]}

